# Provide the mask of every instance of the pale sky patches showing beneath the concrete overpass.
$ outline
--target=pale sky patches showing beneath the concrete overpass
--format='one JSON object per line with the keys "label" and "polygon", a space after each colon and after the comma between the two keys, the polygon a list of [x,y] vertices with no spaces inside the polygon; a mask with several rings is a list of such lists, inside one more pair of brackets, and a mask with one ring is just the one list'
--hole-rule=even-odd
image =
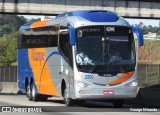
{"label": "pale sky patches showing beneath the concrete overpass", "polygon": [[[41,16],[34,16],[34,15],[23,15],[25,18],[41,18]],[[49,16],[52,18],[52,16]],[[125,18],[129,24],[139,24],[140,22],[143,22],[144,25],[149,26],[152,25],[153,27],[157,26],[159,27],[160,20],[156,19],[131,19],[131,18]]]}

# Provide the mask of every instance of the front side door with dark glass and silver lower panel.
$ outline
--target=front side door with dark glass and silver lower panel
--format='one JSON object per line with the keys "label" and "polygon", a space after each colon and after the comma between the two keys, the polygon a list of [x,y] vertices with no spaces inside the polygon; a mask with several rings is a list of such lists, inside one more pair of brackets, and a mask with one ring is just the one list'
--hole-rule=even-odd
{"label": "front side door with dark glass and silver lower panel", "polygon": [[63,59],[61,60],[61,74],[63,76],[63,79],[65,80],[66,86],[68,86],[67,88],[69,92],[71,92],[71,89],[73,89],[72,87],[72,84],[73,84],[73,55],[72,55],[72,46],[70,45],[68,27],[60,27],[59,51],[63,57]]}

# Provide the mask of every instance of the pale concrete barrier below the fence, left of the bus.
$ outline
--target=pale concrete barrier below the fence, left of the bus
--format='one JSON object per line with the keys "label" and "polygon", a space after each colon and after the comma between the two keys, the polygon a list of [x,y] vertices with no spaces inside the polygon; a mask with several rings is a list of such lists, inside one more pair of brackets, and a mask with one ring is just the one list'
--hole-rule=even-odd
{"label": "pale concrete barrier below the fence, left of the bus", "polygon": [[0,93],[15,93],[19,91],[17,82],[1,82]]}

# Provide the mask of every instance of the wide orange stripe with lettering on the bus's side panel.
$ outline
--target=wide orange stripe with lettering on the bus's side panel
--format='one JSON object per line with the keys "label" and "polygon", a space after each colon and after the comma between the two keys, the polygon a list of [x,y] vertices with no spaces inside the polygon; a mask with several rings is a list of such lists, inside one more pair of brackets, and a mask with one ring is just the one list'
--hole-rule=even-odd
{"label": "wide orange stripe with lettering on the bus's side panel", "polygon": [[60,96],[53,83],[48,63],[45,64],[47,59],[45,48],[28,49],[28,58],[38,92],[40,94]]}

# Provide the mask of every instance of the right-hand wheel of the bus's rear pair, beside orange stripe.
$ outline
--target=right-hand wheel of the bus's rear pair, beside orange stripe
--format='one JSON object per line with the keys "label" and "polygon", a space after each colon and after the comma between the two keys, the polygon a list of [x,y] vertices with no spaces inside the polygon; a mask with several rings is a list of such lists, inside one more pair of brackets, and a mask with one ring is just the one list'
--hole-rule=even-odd
{"label": "right-hand wheel of the bus's rear pair, beside orange stripe", "polygon": [[31,84],[31,96],[33,101],[39,101],[39,95],[36,94],[36,88],[35,88],[34,82]]}

